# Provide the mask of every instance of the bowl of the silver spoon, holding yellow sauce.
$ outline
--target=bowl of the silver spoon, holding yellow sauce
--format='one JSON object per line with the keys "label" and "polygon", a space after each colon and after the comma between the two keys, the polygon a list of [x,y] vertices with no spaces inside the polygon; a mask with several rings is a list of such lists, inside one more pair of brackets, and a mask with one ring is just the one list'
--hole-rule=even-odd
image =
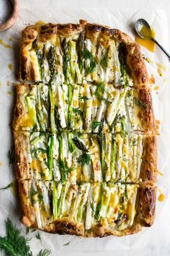
{"label": "bowl of the silver spoon, holding yellow sauce", "polygon": [[139,19],[135,22],[135,30],[143,39],[152,39],[151,27],[144,19]]}

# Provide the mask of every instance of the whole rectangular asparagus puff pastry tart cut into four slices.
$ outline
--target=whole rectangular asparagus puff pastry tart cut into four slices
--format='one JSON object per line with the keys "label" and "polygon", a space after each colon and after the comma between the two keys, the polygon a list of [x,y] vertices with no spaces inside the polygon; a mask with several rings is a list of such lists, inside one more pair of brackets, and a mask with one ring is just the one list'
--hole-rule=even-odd
{"label": "whole rectangular asparagus puff pastry tart cut into four slices", "polygon": [[12,128],[22,223],[86,237],[151,226],[157,132],[138,43],[86,20],[30,25],[20,81]]}

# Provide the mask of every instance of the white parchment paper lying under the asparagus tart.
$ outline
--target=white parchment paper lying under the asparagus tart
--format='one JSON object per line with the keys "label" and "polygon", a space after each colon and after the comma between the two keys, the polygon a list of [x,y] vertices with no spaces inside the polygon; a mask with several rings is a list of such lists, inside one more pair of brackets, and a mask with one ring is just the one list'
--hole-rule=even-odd
{"label": "white parchment paper lying under the asparagus tart", "polygon": [[[16,82],[14,73],[18,71],[19,63],[19,38],[21,30],[29,24],[42,20],[44,22],[79,22],[85,19],[89,22],[101,23],[116,27],[134,38],[132,25],[135,20],[143,17],[156,30],[157,40],[169,51],[169,27],[166,14],[161,10],[137,9],[20,9],[17,23],[4,33],[0,33],[0,39],[13,48],[4,48],[0,45],[0,187],[4,187],[14,179],[14,166],[8,166],[7,152],[12,145],[10,123],[12,121],[12,110],[14,108],[14,86]],[[11,39],[12,38],[12,39]],[[164,176],[158,175],[158,188],[161,188],[166,198],[164,202],[156,203],[156,219],[151,228],[145,228],[139,234],[125,237],[108,236],[102,239],[84,239],[76,236],[60,236],[40,232],[41,242],[35,238],[36,232],[29,234],[32,237],[30,246],[34,255],[37,255],[42,247],[51,249],[52,255],[170,255],[170,214],[169,214],[169,164],[170,164],[170,87],[169,87],[169,61],[166,56],[156,47],[153,54],[142,48],[143,54],[154,61],[146,63],[149,74],[155,77],[155,85],[159,90],[153,90],[153,106],[156,119],[161,121],[161,136],[158,137],[158,169]],[[158,64],[164,64],[166,72],[163,76],[158,74]],[[13,69],[8,68],[12,64]],[[0,164],[1,164],[0,163]],[[158,192],[159,195],[159,192]],[[12,219],[17,226],[25,227],[19,223],[19,202],[14,195],[13,189],[0,191],[0,234],[5,234],[4,221]],[[63,244],[68,246],[63,246]],[[130,249],[130,250],[129,250]],[[146,254],[147,252],[147,254]],[[155,253],[154,253],[155,252]]]}

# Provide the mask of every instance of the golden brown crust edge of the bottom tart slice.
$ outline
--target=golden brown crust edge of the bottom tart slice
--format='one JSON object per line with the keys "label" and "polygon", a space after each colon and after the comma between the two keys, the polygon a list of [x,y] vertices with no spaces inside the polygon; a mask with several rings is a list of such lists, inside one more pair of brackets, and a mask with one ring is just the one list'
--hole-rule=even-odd
{"label": "golden brown crust edge of the bottom tart slice", "polygon": [[[19,195],[22,208],[22,223],[26,226],[38,228],[35,220],[35,209],[30,203],[26,181],[19,182]],[[62,218],[61,220],[53,221],[53,223],[47,223],[41,230],[53,234],[74,234],[86,237],[103,237],[109,235],[125,236],[135,234],[140,231],[143,226],[151,226],[153,224],[156,207],[156,187],[141,184],[138,188],[137,198],[137,213],[133,226],[129,226],[125,230],[112,231],[109,229],[109,226],[98,223],[91,230],[84,231],[84,225],[82,225],[82,223],[75,223],[74,221],[68,220],[68,218]]]}

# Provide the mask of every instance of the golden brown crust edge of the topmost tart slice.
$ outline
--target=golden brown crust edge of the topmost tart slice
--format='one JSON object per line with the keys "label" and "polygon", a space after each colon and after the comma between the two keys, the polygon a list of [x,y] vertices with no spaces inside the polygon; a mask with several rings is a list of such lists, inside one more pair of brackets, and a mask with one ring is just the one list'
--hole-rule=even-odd
{"label": "golden brown crust edge of the topmost tart slice", "polygon": [[24,54],[24,47],[32,43],[37,36],[43,41],[45,38],[50,37],[54,33],[58,32],[59,35],[69,38],[73,35],[77,35],[82,30],[86,31],[86,37],[90,38],[93,43],[97,42],[99,34],[107,35],[107,37],[113,37],[118,40],[119,43],[123,43],[125,46],[125,61],[128,70],[133,77],[135,85],[148,86],[148,72],[143,60],[143,56],[140,51],[138,43],[134,42],[129,35],[122,33],[120,30],[111,29],[107,26],[99,24],[87,23],[86,20],[80,20],[79,24],[51,24],[47,25],[31,25],[26,27],[22,31],[21,51],[20,51],[20,63],[21,63],[21,78],[22,80],[36,81],[34,70],[31,67],[30,61]]}

